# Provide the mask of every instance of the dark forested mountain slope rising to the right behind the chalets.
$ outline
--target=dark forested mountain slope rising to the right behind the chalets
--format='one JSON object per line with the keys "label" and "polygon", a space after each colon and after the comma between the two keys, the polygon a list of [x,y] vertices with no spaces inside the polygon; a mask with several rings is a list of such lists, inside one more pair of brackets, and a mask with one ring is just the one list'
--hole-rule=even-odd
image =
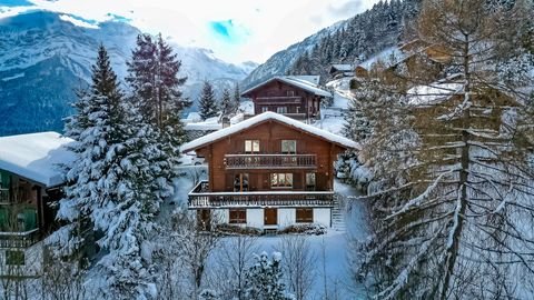
{"label": "dark forested mountain slope rising to the right behind the chalets", "polygon": [[379,1],[372,9],[337,22],[270,57],[244,81],[249,87],[275,74],[328,77],[330,63],[357,63],[409,39],[421,0]]}

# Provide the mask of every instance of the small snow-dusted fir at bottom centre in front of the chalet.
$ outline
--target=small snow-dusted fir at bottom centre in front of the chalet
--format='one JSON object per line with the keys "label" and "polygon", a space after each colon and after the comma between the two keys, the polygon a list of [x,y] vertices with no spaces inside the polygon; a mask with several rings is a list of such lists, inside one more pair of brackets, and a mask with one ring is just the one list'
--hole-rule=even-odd
{"label": "small snow-dusted fir at bottom centre in front of the chalet", "polygon": [[281,281],[281,254],[274,252],[269,259],[266,252],[256,256],[256,263],[245,278],[245,300],[293,300]]}

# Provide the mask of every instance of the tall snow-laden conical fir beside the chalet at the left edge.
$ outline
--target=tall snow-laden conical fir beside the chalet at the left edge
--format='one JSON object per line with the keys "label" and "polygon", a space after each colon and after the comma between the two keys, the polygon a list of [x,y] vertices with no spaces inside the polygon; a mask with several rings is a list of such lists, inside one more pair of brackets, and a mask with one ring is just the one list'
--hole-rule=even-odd
{"label": "tall snow-laden conical fir beside the chalet at the left edge", "polygon": [[67,134],[77,138],[72,149],[78,159],[68,169],[69,186],[58,213],[70,222],[58,232],[69,238],[58,237],[58,249],[65,256],[79,250],[87,236],[76,233],[87,230],[80,227],[88,220],[102,233],[97,243],[103,257],[96,267],[106,282],[100,297],[154,299],[147,249],[159,212],[160,176],[149,158],[165,153],[149,140],[150,127],[139,122],[136,108],[123,100],[118,84],[107,51],[100,47],[91,88],[67,126]]}

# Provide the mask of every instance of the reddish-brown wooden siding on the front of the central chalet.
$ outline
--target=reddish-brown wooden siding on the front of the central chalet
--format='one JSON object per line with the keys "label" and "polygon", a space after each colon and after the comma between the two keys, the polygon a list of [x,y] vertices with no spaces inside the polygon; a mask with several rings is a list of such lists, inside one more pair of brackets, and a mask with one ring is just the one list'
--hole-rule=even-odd
{"label": "reddish-brown wooden siding on the front of the central chalet", "polygon": [[[281,153],[281,140],[296,140],[297,154],[314,154],[314,168],[296,169],[290,163],[285,169],[277,166],[276,170],[269,168],[255,169],[228,169],[225,156],[244,154],[245,140],[259,140],[259,153]],[[202,149],[197,154],[205,157],[209,164],[209,190],[211,192],[234,191],[234,180],[240,173],[248,174],[248,191],[267,190],[306,190],[306,173],[316,174],[317,191],[329,191],[334,182],[333,163],[337,154],[345,149],[337,144],[323,140],[318,137],[305,133],[298,129],[281,124],[276,121],[267,121],[256,127],[246,129],[222,140],[216,141]],[[293,188],[270,187],[271,173],[293,173]]]}

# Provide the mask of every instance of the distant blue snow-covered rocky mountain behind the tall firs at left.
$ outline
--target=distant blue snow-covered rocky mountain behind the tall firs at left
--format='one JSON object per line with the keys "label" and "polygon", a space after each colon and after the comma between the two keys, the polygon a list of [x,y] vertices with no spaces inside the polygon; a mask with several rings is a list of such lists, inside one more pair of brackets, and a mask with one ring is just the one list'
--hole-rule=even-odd
{"label": "distant blue snow-covered rocky mountain behind the tall firs at left", "polygon": [[[62,118],[72,112],[75,90],[90,81],[98,46],[108,49],[113,70],[123,79],[139,33],[126,22],[97,24],[48,11],[0,19],[0,136],[61,131]],[[230,87],[254,68],[250,62],[221,61],[207,49],[172,47],[182,60],[180,73],[188,77],[184,93],[194,100],[202,80]]]}

